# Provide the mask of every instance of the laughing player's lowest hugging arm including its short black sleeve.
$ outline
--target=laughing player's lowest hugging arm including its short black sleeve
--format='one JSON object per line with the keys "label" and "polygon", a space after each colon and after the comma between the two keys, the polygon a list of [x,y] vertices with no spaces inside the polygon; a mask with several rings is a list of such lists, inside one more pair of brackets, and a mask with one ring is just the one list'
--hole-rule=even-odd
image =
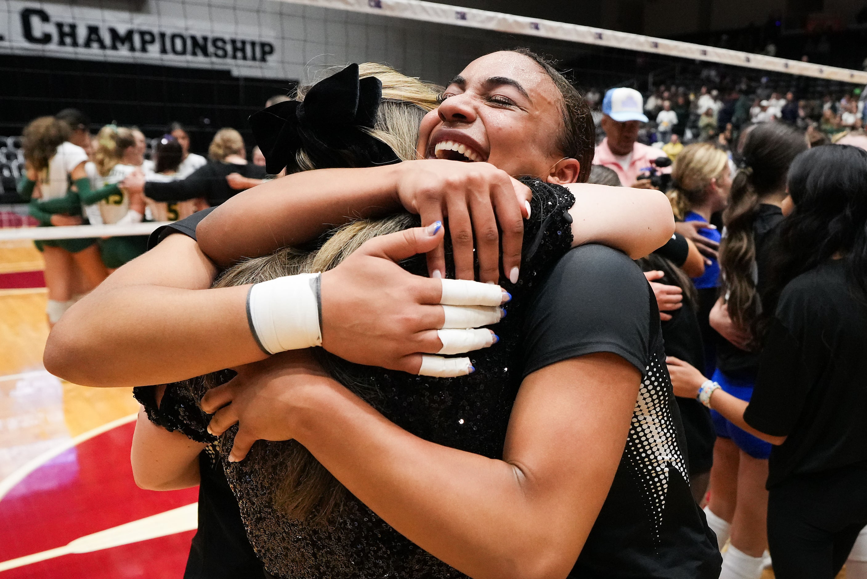
{"label": "laughing player's lowest hugging arm including its short black sleeve", "polygon": [[294,438],[394,529],[469,576],[565,577],[623,455],[648,362],[648,327],[634,321],[649,319],[649,290],[622,253],[586,246],[539,295],[502,459],[418,438],[316,368],[298,372],[303,361],[244,371],[202,407],[219,409],[214,433],[238,419],[230,460],[256,438]]}

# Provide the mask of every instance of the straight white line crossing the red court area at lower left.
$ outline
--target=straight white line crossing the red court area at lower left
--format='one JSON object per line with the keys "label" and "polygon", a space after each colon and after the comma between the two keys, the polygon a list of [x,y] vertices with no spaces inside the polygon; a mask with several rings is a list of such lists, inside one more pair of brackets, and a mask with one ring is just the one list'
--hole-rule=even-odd
{"label": "straight white line crossing the red court area at lower left", "polygon": [[53,559],[62,555],[92,553],[93,551],[155,539],[159,536],[183,533],[187,530],[195,530],[198,526],[199,503],[190,503],[177,509],[166,510],[157,515],[140,518],[138,521],[133,521],[132,523],[125,523],[111,529],[80,536],[63,547],[3,561],[0,563],[0,572],[39,563],[40,561]]}

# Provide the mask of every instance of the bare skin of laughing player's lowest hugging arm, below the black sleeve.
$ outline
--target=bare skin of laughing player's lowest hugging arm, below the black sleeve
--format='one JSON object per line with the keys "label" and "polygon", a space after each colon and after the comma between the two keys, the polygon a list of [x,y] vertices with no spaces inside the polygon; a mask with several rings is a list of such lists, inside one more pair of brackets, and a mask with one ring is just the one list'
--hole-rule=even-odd
{"label": "bare skin of laughing player's lowest hugging arm, below the black sleeve", "polygon": [[[249,378],[262,384],[261,374]],[[534,579],[565,577],[575,564],[623,454],[641,375],[608,352],[533,372],[512,409],[502,460],[418,438],[322,372],[299,372],[286,359],[268,378],[248,410],[268,414],[270,426],[250,437],[241,418],[236,445],[295,438],[433,556],[476,579]],[[244,385],[209,391],[203,408],[224,404],[232,388]],[[215,433],[236,404],[218,412]]]}

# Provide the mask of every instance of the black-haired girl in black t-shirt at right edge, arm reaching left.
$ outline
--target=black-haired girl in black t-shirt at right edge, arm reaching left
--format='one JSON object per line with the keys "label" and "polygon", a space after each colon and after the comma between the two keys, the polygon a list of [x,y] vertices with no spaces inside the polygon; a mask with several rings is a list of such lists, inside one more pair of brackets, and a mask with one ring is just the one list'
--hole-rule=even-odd
{"label": "black-haired girl in black t-shirt at right edge, arm reaching left", "polygon": [[678,362],[669,371],[676,392],[701,389],[715,411],[775,444],[767,532],[778,579],[831,579],[867,523],[867,153],[811,149],[788,185],[795,209],[768,266],[753,398]]}

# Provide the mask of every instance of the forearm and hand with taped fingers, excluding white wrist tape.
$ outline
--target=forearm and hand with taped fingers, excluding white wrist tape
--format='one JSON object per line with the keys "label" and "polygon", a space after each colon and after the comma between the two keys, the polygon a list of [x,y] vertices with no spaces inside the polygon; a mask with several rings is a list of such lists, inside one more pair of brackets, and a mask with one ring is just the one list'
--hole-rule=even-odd
{"label": "forearm and hand with taped fingers, excluding white wrist tape", "polygon": [[[430,251],[442,236],[441,226],[382,235],[323,273],[323,347],[359,364],[420,373],[422,354],[440,352],[444,345],[438,330],[447,319],[440,302],[454,302],[443,299],[443,282],[412,275],[397,262]],[[216,274],[194,240],[169,235],[69,308],[49,335],[45,368],[76,384],[138,386],[168,384],[266,358],[248,321],[250,285],[210,289]],[[465,306],[473,305],[493,310],[486,303],[492,293],[498,303],[503,299],[499,288],[466,284],[486,298],[476,296],[480,300],[462,302],[455,310],[465,312]],[[472,326],[490,324],[489,318]],[[284,329],[294,327],[288,323]],[[447,327],[450,335],[486,332],[491,339],[487,330]],[[485,345],[490,343],[461,342],[464,349],[449,353]],[[461,372],[472,372],[468,365],[466,359]]]}

